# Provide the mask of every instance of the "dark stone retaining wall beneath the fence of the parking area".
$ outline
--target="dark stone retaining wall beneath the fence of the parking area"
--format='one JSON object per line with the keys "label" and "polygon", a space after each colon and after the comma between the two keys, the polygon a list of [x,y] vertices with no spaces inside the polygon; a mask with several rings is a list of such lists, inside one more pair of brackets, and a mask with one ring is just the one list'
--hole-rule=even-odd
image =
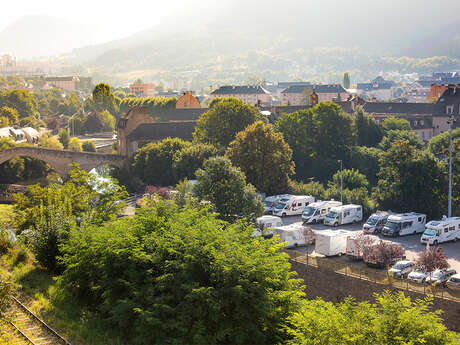
{"label": "dark stone retaining wall beneath the fence of the parking area", "polygon": [[[373,301],[374,293],[389,290],[387,285],[371,281],[345,276],[336,273],[326,267],[313,267],[291,260],[292,269],[297,272],[306,285],[308,298],[321,297],[334,303],[341,302],[347,296],[353,296],[358,301]],[[402,291],[396,288],[390,289]],[[412,291],[405,291],[407,296],[413,299],[422,299],[425,296]],[[434,299],[434,309],[444,311],[442,315],[446,326],[456,332],[460,332],[460,303],[441,298]]]}

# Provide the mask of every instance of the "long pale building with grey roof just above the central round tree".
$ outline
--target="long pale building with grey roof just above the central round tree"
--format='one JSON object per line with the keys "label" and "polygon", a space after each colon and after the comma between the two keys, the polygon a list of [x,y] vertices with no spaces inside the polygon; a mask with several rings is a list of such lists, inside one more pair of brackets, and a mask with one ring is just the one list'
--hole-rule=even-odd
{"label": "long pale building with grey roof just above the central round tree", "polygon": [[255,105],[270,105],[272,96],[262,86],[221,86],[211,92],[211,98],[235,97],[239,100]]}

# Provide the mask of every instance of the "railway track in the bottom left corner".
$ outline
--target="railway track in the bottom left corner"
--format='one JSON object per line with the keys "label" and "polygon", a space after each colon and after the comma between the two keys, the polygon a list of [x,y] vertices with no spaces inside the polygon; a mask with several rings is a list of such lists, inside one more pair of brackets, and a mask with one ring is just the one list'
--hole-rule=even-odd
{"label": "railway track in the bottom left corner", "polygon": [[12,300],[1,334],[8,344],[71,345],[18,299]]}

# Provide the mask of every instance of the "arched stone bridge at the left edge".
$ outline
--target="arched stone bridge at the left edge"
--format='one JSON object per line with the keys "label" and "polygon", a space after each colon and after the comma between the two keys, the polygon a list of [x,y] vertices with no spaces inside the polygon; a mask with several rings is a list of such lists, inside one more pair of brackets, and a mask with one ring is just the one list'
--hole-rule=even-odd
{"label": "arched stone bridge at the left edge", "polygon": [[125,156],[93,152],[75,152],[67,150],[47,149],[34,146],[14,147],[0,150],[0,164],[17,156],[40,159],[48,163],[60,176],[66,177],[72,163],[78,163],[80,168],[90,171],[103,165],[122,168],[127,161]]}

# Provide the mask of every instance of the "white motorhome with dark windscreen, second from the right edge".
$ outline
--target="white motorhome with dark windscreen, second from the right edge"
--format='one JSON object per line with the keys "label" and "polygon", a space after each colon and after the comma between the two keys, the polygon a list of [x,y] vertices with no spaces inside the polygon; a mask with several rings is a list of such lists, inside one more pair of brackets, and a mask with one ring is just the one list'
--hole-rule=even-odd
{"label": "white motorhome with dark windscreen, second from the right edge", "polygon": [[402,213],[388,217],[382,234],[385,236],[405,236],[425,231],[426,215],[423,213]]}

